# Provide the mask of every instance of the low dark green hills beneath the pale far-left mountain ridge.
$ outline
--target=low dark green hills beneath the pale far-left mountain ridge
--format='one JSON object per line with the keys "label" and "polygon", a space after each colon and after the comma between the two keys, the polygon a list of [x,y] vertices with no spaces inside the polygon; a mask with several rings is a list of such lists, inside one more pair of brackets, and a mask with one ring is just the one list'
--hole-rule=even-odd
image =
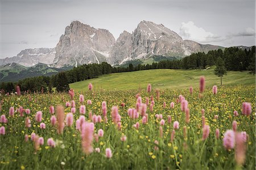
{"label": "low dark green hills beneath the pale far-left mountain ridge", "polygon": [[18,63],[10,63],[0,66],[0,82],[17,82],[20,79],[32,76],[57,74],[62,70],[64,69],[49,67],[44,63],[38,63],[31,67],[25,67]]}

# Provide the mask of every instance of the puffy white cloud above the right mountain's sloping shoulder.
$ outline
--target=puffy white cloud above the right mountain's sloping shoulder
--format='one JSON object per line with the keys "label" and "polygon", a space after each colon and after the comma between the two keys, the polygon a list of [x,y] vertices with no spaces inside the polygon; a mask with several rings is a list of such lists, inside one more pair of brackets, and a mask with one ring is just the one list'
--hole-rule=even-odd
{"label": "puffy white cloud above the right mountain's sloping shoulder", "polygon": [[214,35],[211,32],[205,31],[201,27],[197,27],[192,21],[181,23],[179,35],[183,39],[193,40],[196,42],[216,42],[224,41],[226,38]]}

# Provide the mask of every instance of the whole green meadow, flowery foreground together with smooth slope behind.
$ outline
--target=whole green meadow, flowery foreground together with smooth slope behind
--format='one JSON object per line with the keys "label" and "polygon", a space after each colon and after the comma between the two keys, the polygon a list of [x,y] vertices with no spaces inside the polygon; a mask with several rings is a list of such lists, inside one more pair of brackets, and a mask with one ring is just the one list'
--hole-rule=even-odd
{"label": "whole green meadow, flowery foreground together with smooth slope behind", "polygon": [[[126,76],[123,76],[124,74],[111,74],[71,84],[71,87],[75,88],[73,107],[65,106],[67,101],[72,103],[72,92],[71,95],[56,93],[0,96],[1,114],[7,119],[6,122],[1,116],[0,168],[255,168],[256,97],[253,75],[246,72],[228,72],[228,75],[224,76],[224,84],[229,86],[218,86],[217,94],[213,94],[212,85],[219,82],[219,78],[210,71],[147,70],[126,73]],[[205,75],[206,85],[201,94],[200,75]],[[120,83],[121,81],[123,83]],[[92,82],[93,90],[88,90],[89,82]],[[151,91],[147,91],[147,83],[152,84]],[[189,92],[190,86],[193,86],[192,94]],[[159,87],[164,88],[156,90]],[[80,94],[84,95],[84,101],[80,99]],[[138,96],[141,96],[142,101]],[[144,104],[147,103],[146,97],[148,105]],[[92,104],[88,100],[92,101]],[[188,101],[189,111],[185,109],[185,100]],[[102,101],[106,101],[108,120],[104,118],[102,110],[105,107],[102,107]],[[172,102],[174,108],[170,107]],[[248,116],[242,114],[243,102],[250,103],[253,108]],[[57,109],[57,105],[64,107],[65,115],[61,114],[61,108]],[[81,105],[86,107],[85,114],[81,114]],[[146,111],[145,107],[143,108],[145,105]],[[52,114],[49,113],[50,106],[55,108]],[[112,110],[114,106],[118,107],[118,112]],[[10,115],[10,107],[14,107],[14,116]],[[135,108],[133,113],[129,112],[130,115],[127,113],[129,108]],[[185,112],[181,111],[181,108]],[[25,109],[30,109],[30,113],[28,110],[24,112]],[[38,111],[42,111],[42,120]],[[234,111],[237,111],[238,115],[234,116]],[[243,112],[245,113],[245,110]],[[59,123],[53,125],[52,116],[57,117]],[[94,124],[80,124],[81,116],[85,117],[86,122]],[[100,122],[97,122],[98,116],[102,117]],[[65,117],[63,133],[60,130],[63,125],[61,117]],[[28,119],[31,121],[31,127]],[[179,122],[179,127],[175,121]],[[237,126],[233,125],[234,121]],[[42,123],[45,124],[45,129]],[[2,127],[5,127],[5,134],[2,133]],[[220,131],[219,137],[216,135],[216,129]],[[237,132],[246,131],[246,134],[243,133],[245,136],[243,142],[240,142],[241,145],[233,143],[232,147],[232,142],[235,139],[238,141],[234,137],[230,139],[231,144],[227,147],[224,145],[224,134],[232,129]],[[39,137],[43,137],[44,142]],[[238,151],[240,154],[235,159]]]}

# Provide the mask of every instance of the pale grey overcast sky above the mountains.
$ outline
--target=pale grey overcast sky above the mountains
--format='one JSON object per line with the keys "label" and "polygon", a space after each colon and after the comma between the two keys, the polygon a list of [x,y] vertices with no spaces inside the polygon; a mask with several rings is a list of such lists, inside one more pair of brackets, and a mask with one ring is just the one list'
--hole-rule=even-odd
{"label": "pale grey overcast sky above the mountains", "polygon": [[255,0],[0,0],[0,58],[54,48],[73,20],[115,39],[148,20],[201,44],[255,45]]}

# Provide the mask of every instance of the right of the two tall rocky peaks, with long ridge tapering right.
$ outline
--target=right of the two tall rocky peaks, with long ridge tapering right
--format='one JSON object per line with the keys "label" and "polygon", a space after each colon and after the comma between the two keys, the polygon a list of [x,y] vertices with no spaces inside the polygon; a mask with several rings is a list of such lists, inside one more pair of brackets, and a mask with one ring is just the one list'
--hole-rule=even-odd
{"label": "right of the two tall rocky peaks, with long ridge tapering right", "polygon": [[219,48],[223,47],[183,40],[163,24],[143,20],[133,33],[121,33],[110,52],[109,62],[122,65],[136,59],[147,60],[152,56],[185,57],[191,53],[207,53]]}

